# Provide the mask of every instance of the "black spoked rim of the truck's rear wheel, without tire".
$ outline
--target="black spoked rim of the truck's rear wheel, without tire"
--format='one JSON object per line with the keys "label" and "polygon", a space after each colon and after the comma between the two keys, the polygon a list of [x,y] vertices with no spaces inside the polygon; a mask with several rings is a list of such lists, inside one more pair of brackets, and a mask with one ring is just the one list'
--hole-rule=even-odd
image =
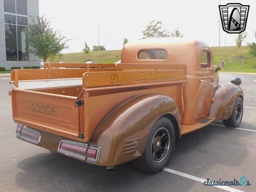
{"label": "black spoked rim of the truck's rear wheel, without tire", "polygon": [[151,155],[155,162],[161,162],[166,157],[170,146],[170,134],[164,127],[158,129],[152,139]]}

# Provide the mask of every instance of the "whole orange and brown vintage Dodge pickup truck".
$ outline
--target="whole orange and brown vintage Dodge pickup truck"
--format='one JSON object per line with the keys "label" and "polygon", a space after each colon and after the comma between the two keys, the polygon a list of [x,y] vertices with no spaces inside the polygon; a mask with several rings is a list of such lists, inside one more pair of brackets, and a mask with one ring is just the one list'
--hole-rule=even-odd
{"label": "whole orange and brown vintage Dodge pickup truck", "polygon": [[162,170],[176,138],[214,120],[238,127],[240,78],[219,85],[211,48],[197,40],[156,38],[128,43],[120,64],[48,63],[13,70],[16,137],[84,162],[132,161]]}

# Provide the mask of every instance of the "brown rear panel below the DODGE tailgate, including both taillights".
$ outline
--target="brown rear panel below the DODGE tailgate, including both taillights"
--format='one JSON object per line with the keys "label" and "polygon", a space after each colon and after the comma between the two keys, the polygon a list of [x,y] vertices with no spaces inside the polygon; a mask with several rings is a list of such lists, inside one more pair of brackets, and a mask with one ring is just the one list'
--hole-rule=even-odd
{"label": "brown rear panel below the DODGE tailgate, including both taillights", "polygon": [[22,124],[18,124],[15,136],[20,140],[30,142],[42,148],[64,154],[71,158],[75,158],[90,164],[101,165],[98,164],[100,157],[100,146],[88,146],[88,143],[77,142],[63,136],[42,130],[36,130]]}

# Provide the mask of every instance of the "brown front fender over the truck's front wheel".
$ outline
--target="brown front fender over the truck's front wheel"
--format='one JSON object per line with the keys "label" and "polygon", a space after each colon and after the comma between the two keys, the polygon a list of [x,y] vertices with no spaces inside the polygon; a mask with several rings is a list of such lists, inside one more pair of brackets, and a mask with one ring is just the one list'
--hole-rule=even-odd
{"label": "brown front fender over the truck's front wheel", "polygon": [[233,83],[222,85],[214,93],[214,103],[211,105],[210,116],[216,117],[216,120],[226,120],[230,118],[234,103],[238,96],[244,100],[244,92]]}

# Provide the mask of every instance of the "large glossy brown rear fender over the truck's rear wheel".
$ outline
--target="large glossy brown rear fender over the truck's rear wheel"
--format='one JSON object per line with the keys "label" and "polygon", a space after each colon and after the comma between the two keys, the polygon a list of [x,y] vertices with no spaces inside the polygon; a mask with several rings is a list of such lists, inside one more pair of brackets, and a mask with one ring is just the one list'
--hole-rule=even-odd
{"label": "large glossy brown rear fender over the truck's rear wheel", "polygon": [[172,98],[159,94],[132,97],[110,111],[96,127],[91,144],[101,147],[98,165],[114,166],[144,152],[156,120],[170,114],[180,130],[180,113]]}

